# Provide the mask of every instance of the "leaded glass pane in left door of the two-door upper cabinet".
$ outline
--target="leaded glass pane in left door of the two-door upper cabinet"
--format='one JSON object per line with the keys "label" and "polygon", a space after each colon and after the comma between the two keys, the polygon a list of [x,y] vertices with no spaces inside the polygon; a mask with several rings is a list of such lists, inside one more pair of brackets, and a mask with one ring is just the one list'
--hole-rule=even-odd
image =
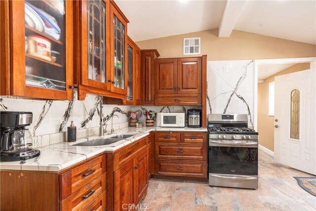
{"label": "leaded glass pane in left door of the two-door upper cabinet", "polygon": [[88,0],[88,78],[106,83],[105,2]]}

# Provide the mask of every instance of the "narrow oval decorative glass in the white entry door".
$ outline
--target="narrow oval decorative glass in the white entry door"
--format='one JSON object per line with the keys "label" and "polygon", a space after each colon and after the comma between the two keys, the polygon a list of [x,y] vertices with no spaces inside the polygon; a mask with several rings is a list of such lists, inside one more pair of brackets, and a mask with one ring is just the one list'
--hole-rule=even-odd
{"label": "narrow oval decorative glass in the white entry door", "polygon": [[291,92],[291,135],[290,138],[300,139],[300,91]]}

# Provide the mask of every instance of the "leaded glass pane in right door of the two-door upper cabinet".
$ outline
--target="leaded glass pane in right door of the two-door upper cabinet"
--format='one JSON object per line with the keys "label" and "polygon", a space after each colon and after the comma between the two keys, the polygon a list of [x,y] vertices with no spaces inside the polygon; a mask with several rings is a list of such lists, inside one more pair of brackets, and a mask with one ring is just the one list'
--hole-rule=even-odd
{"label": "leaded glass pane in right door of the two-door upper cabinet", "polygon": [[125,26],[114,15],[114,86],[125,89]]}

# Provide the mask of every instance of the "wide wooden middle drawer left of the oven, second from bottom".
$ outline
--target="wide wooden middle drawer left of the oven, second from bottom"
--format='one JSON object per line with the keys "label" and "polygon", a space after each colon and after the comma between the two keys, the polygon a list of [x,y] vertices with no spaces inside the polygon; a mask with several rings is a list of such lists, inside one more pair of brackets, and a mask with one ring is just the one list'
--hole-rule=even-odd
{"label": "wide wooden middle drawer left of the oven, second from bottom", "polygon": [[155,146],[156,159],[206,160],[207,144],[159,143]]}

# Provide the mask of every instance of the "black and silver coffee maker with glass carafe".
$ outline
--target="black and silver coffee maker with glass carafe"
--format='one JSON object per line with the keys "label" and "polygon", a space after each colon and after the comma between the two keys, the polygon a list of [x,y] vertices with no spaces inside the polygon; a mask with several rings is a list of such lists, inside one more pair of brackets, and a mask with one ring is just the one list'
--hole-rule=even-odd
{"label": "black and silver coffee maker with glass carafe", "polygon": [[0,113],[0,161],[20,161],[40,155],[33,149],[33,137],[26,126],[31,125],[32,112],[3,111]]}

